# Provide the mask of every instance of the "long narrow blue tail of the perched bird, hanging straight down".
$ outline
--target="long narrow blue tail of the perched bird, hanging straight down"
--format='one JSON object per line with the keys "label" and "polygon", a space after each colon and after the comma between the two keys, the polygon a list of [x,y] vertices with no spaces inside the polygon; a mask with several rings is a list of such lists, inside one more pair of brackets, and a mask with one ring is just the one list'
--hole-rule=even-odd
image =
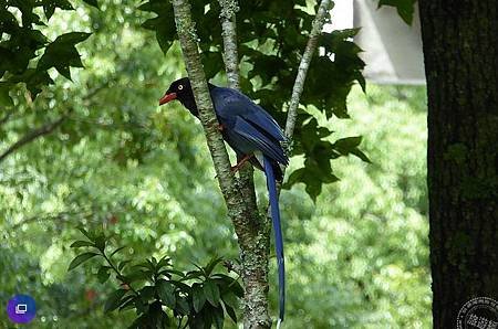
{"label": "long narrow blue tail of the perched bird, hanging straight down", "polygon": [[268,194],[270,199],[271,221],[274,232],[274,250],[277,253],[277,263],[279,270],[279,325],[283,321],[286,310],[286,263],[283,259],[283,240],[282,229],[280,226],[279,199],[277,195],[277,185],[271,160],[267,157],[264,161],[264,173],[267,174]]}

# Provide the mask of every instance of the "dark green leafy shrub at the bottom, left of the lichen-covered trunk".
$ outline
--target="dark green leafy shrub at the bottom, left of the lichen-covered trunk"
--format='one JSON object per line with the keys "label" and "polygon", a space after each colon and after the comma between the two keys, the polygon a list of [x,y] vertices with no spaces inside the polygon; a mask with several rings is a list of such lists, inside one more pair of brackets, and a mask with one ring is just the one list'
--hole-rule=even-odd
{"label": "dark green leafy shrub at the bottom, left of the lichen-covered trunk", "polygon": [[197,269],[185,274],[175,269],[167,256],[133,265],[132,259],[115,259],[124,246],[110,253],[110,238],[103,232],[80,231],[87,240],[75,241],[71,247],[90,252],[79,254],[69,270],[95,256],[103,259],[96,274],[98,282],[104,284],[113,273],[121,286],[107,296],[104,311],[135,310],[129,328],[180,328],[184,319],[190,328],[222,328],[225,315],[237,322],[236,309],[243,289],[237,278],[215,272],[222,258],[211,258],[204,267],[195,265]]}

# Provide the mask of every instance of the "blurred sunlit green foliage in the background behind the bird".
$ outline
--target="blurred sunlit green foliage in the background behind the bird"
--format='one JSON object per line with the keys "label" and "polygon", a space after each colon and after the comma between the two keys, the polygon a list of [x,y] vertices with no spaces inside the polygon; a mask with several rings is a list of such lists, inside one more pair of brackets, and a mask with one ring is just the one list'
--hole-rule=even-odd
{"label": "blurred sunlit green foliage in the background behind the bird", "polygon": [[[168,254],[185,269],[238,256],[201,127],[179,104],[157,106],[184,74],[178,45],[165,57],[141,21],[126,1],[56,11],[46,35],[96,31],[77,46],[86,68],[72,70],[73,82],[51,72],[55,84],[34,103],[19,88],[15,113],[0,125],[2,151],[70,113],[0,163],[0,300],[33,296],[38,315],[28,328],[126,328],[133,318],[103,314],[115,282],[101,285],[95,267],[66,272],[79,224],[111,232],[133,257]],[[341,180],[315,203],[301,184],[282,192],[286,327],[429,328],[425,88],[369,85],[365,95],[354,87],[347,102],[351,120],[309,110],[339,136],[362,135],[373,163],[334,161]],[[288,174],[301,163],[294,157]],[[12,327],[3,311],[0,327]]]}

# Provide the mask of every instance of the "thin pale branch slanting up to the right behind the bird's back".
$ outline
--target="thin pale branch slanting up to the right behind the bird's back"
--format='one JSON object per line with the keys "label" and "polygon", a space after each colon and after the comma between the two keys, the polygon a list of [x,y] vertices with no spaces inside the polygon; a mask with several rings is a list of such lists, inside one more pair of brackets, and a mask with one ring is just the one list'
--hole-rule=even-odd
{"label": "thin pale branch slanting up to the right behind the bird's back", "polygon": [[301,63],[299,64],[298,75],[295,76],[294,86],[292,87],[292,96],[289,105],[289,110],[287,114],[286,123],[286,136],[291,139],[294,134],[295,118],[298,117],[298,106],[301,98],[302,89],[304,87],[304,81],[307,78],[308,68],[310,67],[311,59],[318,46],[318,41],[320,34],[323,30],[323,24],[325,23],[326,13],[330,11],[332,6],[331,0],[322,0],[320,3],[317,15],[313,20],[313,26],[311,29],[310,39],[308,40],[307,47],[301,57]]}

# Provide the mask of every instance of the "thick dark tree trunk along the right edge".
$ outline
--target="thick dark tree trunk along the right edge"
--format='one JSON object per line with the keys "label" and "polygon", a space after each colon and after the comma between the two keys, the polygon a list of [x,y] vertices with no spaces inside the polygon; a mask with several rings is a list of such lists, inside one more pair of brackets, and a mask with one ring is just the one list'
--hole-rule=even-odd
{"label": "thick dark tree trunk along the right edge", "polygon": [[419,0],[434,328],[498,296],[498,2]]}

